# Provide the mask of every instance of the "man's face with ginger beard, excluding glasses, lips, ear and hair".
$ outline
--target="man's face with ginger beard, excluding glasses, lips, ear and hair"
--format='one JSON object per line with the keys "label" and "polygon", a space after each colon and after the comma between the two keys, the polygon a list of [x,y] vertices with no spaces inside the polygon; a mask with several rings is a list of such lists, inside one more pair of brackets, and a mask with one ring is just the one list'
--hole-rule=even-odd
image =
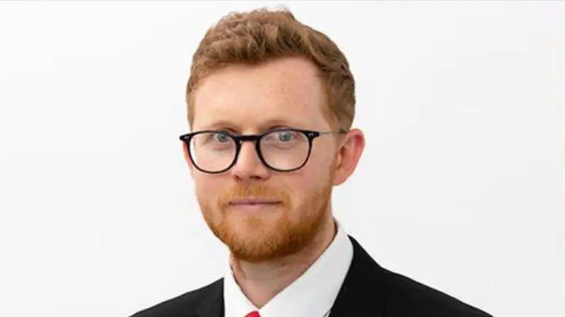
{"label": "man's face with ginger beard, excluding glasses, lips, ear and hair", "polygon": [[[330,131],[322,114],[327,97],[317,72],[311,61],[301,57],[221,68],[194,90],[193,131],[259,134],[281,127]],[[244,142],[231,169],[207,174],[194,168],[183,143],[204,220],[235,257],[264,261],[295,253],[331,219],[336,137],[315,138],[308,162],[293,172],[269,169],[255,152],[254,142]],[[230,203],[249,197],[277,203]]]}

